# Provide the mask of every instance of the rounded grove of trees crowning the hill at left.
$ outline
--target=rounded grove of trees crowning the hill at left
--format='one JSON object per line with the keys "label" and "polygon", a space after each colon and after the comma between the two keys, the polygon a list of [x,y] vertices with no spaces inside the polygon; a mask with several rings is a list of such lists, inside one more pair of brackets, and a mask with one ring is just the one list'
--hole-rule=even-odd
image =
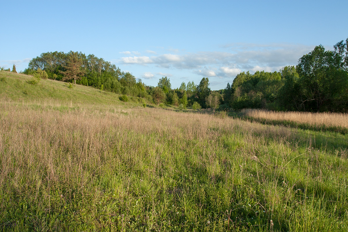
{"label": "rounded grove of trees crowning the hill at left", "polygon": [[129,72],[98,58],[93,54],[70,51],[47,52],[33,58],[24,74],[45,71],[49,79],[73,81],[75,84],[92,86],[112,93],[151,98],[141,80],[136,81]]}

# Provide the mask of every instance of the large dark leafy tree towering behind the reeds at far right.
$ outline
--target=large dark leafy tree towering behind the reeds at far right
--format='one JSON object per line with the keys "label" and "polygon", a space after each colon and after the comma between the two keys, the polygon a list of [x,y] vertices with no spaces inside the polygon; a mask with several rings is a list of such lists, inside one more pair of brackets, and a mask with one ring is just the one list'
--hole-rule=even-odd
{"label": "large dark leafy tree towering behind the reeds at far right", "polygon": [[332,105],[347,89],[347,72],[341,69],[341,56],[316,46],[302,56],[296,66],[305,111],[332,111]]}

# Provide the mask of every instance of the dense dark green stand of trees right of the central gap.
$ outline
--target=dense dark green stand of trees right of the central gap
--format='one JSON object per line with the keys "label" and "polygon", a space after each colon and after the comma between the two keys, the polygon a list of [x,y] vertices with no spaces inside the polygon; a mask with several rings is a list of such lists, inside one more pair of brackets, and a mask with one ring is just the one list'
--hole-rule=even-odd
{"label": "dense dark green stand of trees right of the central gap", "polygon": [[279,72],[239,73],[221,103],[234,110],[348,112],[348,38],[333,51],[316,46]]}

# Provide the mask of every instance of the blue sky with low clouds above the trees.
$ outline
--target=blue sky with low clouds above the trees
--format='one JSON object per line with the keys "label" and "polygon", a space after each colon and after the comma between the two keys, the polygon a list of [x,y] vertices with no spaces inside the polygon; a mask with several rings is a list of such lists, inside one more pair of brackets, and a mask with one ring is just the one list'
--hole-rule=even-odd
{"label": "blue sky with low clouds above the trees", "polygon": [[279,71],[348,37],[348,1],[9,1],[1,3],[0,66],[41,53],[94,54],[146,85],[208,78],[224,89],[240,72]]}

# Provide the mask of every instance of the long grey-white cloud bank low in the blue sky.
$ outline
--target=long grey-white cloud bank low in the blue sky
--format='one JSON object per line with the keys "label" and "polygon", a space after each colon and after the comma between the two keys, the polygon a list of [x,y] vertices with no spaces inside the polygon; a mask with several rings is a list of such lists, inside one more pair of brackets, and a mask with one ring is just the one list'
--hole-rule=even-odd
{"label": "long grey-white cloud bank low in the blue sky", "polygon": [[[197,53],[158,54],[153,56],[128,56],[119,59],[124,65],[155,65],[164,69],[189,70],[203,77],[235,77],[242,71],[279,71],[284,66],[296,65],[298,59],[313,50],[314,46],[295,44],[233,43],[222,46],[223,51]],[[128,53],[127,53],[128,54]],[[144,73],[145,75],[145,73]],[[144,78],[149,78],[145,75]]]}

